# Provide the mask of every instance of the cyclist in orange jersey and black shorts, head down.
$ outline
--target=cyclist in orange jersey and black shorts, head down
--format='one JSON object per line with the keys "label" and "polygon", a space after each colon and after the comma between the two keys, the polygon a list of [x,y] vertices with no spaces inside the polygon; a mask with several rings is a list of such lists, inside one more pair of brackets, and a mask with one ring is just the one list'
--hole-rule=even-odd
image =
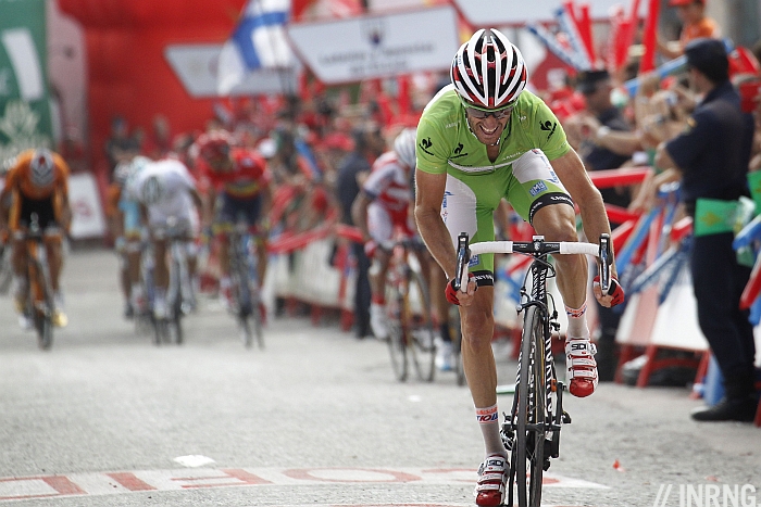
{"label": "cyclist in orange jersey and black shorts, head down", "polygon": [[8,226],[12,233],[15,306],[24,328],[30,322],[24,315],[29,282],[26,277],[25,236],[36,217],[43,233],[50,286],[53,290],[53,326],[68,322],[63,312],[59,280],[63,268],[63,233],[68,230],[72,213],[68,207],[68,165],[59,154],[41,148],[18,154],[5,175],[0,202],[10,195]]}

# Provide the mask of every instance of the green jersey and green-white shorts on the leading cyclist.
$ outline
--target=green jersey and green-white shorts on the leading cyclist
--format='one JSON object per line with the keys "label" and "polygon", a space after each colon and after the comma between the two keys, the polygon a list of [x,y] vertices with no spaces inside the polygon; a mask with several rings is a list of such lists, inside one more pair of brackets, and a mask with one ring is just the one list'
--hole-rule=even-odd
{"label": "green jersey and green-white shorts on the leading cyclist", "polygon": [[[524,90],[500,137],[499,155],[490,161],[449,86],[423,111],[415,154],[417,170],[447,175],[441,218],[457,244],[460,232],[467,232],[474,242],[492,241],[494,212],[502,199],[528,221],[546,205],[573,205],[549,162],[570,150],[552,111]],[[494,255],[476,256],[471,270],[492,271]]]}

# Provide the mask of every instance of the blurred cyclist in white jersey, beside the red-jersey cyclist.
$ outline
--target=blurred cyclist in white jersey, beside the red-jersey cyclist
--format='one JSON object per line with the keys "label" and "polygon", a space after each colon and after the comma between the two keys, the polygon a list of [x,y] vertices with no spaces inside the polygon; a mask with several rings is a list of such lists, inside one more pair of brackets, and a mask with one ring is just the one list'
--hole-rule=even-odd
{"label": "blurred cyclist in white jersey, beside the red-jersey cyclist", "polygon": [[153,314],[157,318],[164,318],[167,314],[169,287],[165,233],[179,233],[187,240],[188,268],[192,277],[196,259],[194,238],[199,230],[198,215],[203,210],[203,202],[188,168],[174,159],[147,164],[128,191],[140,202],[148,225],[155,264]]}

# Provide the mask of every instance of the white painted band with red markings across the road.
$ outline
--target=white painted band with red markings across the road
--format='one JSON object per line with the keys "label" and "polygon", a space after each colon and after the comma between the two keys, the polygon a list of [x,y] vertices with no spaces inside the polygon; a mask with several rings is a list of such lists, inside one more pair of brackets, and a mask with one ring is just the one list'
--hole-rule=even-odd
{"label": "white painted band with red markings across the road", "polygon": [[[0,478],[0,504],[30,498],[103,496],[130,492],[210,487],[325,484],[473,484],[460,468],[192,468]],[[545,487],[604,489],[601,484],[545,474]],[[429,504],[426,504],[429,505]]]}

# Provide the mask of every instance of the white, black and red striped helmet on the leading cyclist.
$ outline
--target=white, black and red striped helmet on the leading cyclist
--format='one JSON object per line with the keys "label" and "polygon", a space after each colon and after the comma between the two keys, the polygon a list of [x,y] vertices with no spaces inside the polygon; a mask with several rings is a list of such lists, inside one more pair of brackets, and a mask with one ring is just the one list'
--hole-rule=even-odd
{"label": "white, black and red striped helmet on the leading cyclist", "polygon": [[479,29],[460,46],[449,76],[466,103],[487,110],[507,107],[526,87],[521,51],[494,28]]}

